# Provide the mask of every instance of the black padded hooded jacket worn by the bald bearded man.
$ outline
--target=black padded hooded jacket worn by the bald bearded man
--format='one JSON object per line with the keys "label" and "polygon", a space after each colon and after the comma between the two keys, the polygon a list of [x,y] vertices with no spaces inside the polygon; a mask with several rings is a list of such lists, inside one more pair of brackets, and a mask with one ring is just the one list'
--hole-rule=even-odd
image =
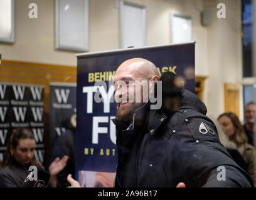
{"label": "black padded hooded jacket worn by the bald bearded man", "polygon": [[[144,104],[117,128],[115,187],[252,187],[250,176],[220,143],[205,104],[184,90],[181,107],[168,114]],[[130,128],[128,128],[130,127]],[[127,130],[127,128],[129,130]]]}

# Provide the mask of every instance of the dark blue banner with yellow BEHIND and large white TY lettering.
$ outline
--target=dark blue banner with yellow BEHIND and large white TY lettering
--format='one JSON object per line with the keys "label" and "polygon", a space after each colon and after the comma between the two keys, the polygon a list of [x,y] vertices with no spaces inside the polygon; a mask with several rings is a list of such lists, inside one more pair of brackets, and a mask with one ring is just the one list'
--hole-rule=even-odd
{"label": "dark blue banner with yellow BEHIND and large white TY lettering", "polygon": [[[76,179],[83,187],[112,187],[117,166],[115,118],[117,105],[110,85],[116,69],[127,59],[154,63],[159,75],[171,71],[181,76],[184,88],[195,93],[195,42],[101,53],[77,54]],[[105,82],[105,87],[96,86]],[[104,99],[97,103],[95,95]]]}

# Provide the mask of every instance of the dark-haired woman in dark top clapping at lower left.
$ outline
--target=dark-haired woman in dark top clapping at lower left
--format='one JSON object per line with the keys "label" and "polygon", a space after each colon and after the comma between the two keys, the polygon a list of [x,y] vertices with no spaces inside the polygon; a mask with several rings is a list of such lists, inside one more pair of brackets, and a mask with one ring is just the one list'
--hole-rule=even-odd
{"label": "dark-haired woman in dark top clapping at lower left", "polygon": [[[29,174],[29,166],[41,166],[35,159],[36,141],[33,133],[26,128],[13,131],[8,149],[4,154],[3,169],[0,170],[0,187],[22,187]],[[49,167],[50,185],[57,186],[56,174],[67,164],[68,157],[56,158]]]}

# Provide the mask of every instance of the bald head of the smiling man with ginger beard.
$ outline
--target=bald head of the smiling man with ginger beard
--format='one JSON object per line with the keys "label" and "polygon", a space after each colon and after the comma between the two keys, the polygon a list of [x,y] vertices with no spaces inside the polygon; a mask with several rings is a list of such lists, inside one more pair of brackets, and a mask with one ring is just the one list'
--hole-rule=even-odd
{"label": "bald head of the smiling man with ginger beard", "polygon": [[[115,99],[124,99],[117,101],[117,118],[122,121],[129,121],[134,111],[143,104],[142,99],[148,99],[151,95],[154,84],[159,79],[156,66],[143,58],[132,58],[120,64],[115,72]],[[125,83],[124,87],[122,84]],[[133,83],[133,84],[131,84]],[[136,85],[143,83],[139,88],[141,90],[136,93]],[[144,89],[147,86],[147,89]],[[125,88],[125,89],[124,89]],[[129,89],[127,89],[129,88]],[[131,102],[129,99],[136,99],[136,95],[140,96],[141,102]]]}

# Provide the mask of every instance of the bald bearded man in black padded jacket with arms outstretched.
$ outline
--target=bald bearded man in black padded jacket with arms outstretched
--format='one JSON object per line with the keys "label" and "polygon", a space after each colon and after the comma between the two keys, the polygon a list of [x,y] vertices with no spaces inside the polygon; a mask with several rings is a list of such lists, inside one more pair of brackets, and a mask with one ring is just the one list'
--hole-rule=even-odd
{"label": "bald bearded man in black padded jacket with arms outstretched", "polygon": [[[183,89],[175,74],[164,73],[159,78],[151,61],[133,58],[120,64],[114,86],[115,187],[252,186],[250,176],[221,145],[214,123],[205,116],[205,104]],[[151,101],[155,97],[163,100],[159,109],[152,106],[158,104]],[[79,186],[71,176],[68,181]]]}

